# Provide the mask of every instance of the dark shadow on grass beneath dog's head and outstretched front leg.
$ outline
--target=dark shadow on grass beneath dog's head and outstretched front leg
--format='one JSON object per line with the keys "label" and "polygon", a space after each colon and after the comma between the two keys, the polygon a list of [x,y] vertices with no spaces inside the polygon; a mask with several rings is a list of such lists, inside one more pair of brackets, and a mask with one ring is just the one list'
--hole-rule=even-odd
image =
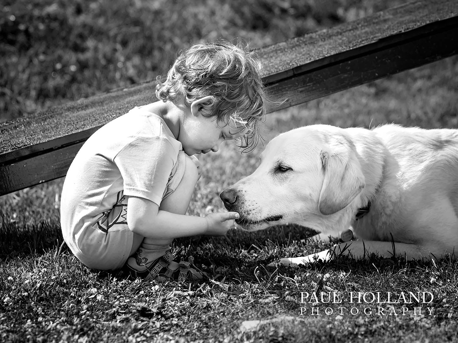
{"label": "dark shadow on grass beneath dog's head and outstretched front leg", "polygon": [[315,249],[322,251],[329,248],[330,242],[307,240],[314,234],[316,234],[314,230],[299,225],[284,225],[256,232],[234,230],[223,237],[191,237],[177,240],[174,244],[177,254],[193,255],[199,263],[213,265],[213,268],[228,268],[232,272],[229,272],[229,279],[236,276],[254,279],[255,273],[259,277],[265,274],[266,279],[272,279],[276,274],[294,278],[297,273],[307,271],[323,274],[338,271],[357,274],[374,273],[381,276],[399,272],[423,273],[427,269],[440,269],[447,266],[457,268],[454,261],[447,259],[440,262],[431,261],[430,258],[406,260],[403,256],[386,258],[374,253],[368,253],[365,259],[340,256],[327,262],[319,260],[295,267],[267,267],[268,263],[278,258],[305,256],[313,253]]}

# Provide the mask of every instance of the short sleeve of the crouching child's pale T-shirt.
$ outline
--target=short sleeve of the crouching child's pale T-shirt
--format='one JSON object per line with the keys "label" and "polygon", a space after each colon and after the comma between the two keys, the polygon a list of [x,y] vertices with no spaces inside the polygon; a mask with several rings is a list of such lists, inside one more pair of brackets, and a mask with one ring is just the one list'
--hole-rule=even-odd
{"label": "short sleeve of the crouching child's pale T-shirt", "polygon": [[159,206],[176,158],[174,148],[163,137],[132,140],[114,158],[123,178],[124,194]]}

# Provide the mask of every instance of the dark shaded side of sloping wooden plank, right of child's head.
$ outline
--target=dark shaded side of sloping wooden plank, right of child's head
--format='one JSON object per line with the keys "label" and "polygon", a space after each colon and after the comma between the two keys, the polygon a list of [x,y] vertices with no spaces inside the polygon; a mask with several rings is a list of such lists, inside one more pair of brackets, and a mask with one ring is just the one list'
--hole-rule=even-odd
{"label": "dark shaded side of sloping wooden plank, right of child's head", "polygon": [[[396,44],[373,44],[360,54],[315,69],[298,71],[269,86],[275,96],[286,99],[282,107],[294,106],[387,75],[458,54],[458,18],[443,31],[431,31]],[[358,49],[356,49],[358,50]]]}

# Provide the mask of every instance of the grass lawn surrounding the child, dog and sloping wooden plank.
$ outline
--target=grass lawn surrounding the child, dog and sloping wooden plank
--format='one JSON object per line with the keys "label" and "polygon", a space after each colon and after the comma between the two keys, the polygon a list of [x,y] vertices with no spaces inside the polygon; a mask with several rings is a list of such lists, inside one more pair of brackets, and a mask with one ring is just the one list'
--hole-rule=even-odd
{"label": "grass lawn surrounding the child, dog and sloping wooden plank", "polygon": [[[201,0],[191,8],[179,1],[7,1],[0,119],[153,79],[191,40],[242,37],[260,47],[401,2]],[[132,35],[142,39],[129,41]],[[453,57],[271,113],[265,139],[313,123],[456,128],[457,91]],[[256,169],[262,148],[240,154],[226,142],[203,155],[188,214],[223,210],[218,194]],[[311,230],[285,225],[175,240],[176,257],[193,256],[210,281],[126,279],[85,268],[61,246],[62,182],[0,197],[2,342],[458,341],[456,262],[372,256],[267,267],[330,244],[307,241]],[[314,291],[336,299],[311,299]],[[400,298],[409,292],[432,299]],[[380,301],[371,301],[377,294]],[[396,301],[387,303],[388,295]]]}

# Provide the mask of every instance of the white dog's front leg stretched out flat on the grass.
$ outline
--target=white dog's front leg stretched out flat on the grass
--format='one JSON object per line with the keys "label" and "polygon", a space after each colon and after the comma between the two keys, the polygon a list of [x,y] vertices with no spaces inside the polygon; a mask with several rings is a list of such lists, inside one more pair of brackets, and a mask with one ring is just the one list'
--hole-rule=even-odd
{"label": "white dog's front leg stretched out flat on the grass", "polygon": [[[292,264],[311,263],[319,259],[322,261],[329,261],[341,254],[349,255],[355,259],[363,259],[368,257],[371,253],[375,253],[377,256],[385,258],[392,257],[393,255],[401,256],[405,257],[406,260],[411,260],[413,258],[418,260],[423,258],[430,259],[434,258],[434,256],[436,258],[442,257],[436,255],[433,256],[430,252],[415,244],[382,241],[351,241],[338,244],[330,249],[308,256],[282,258],[279,264],[289,266]],[[273,265],[275,265],[275,263],[273,263]]]}

